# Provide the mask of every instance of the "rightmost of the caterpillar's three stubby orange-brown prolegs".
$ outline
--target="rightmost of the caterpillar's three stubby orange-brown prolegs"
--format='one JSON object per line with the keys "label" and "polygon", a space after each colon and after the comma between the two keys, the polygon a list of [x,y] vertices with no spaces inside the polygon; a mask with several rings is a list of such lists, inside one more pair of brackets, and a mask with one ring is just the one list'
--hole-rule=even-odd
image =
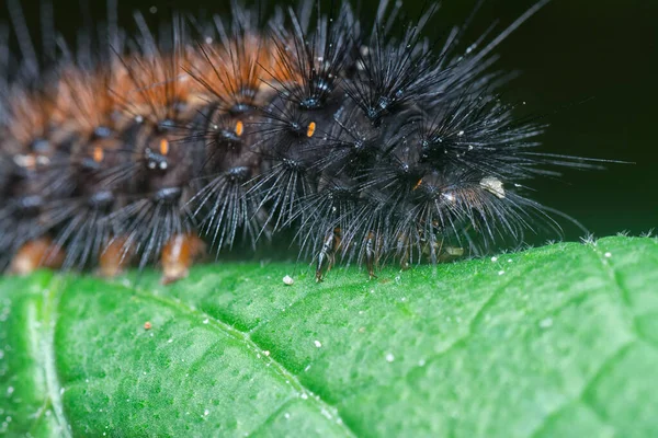
{"label": "rightmost of the caterpillar's three stubby orange-brown prolegs", "polygon": [[194,234],[177,234],[167,242],[162,250],[163,285],[185,278],[190,266],[205,252],[205,243]]}

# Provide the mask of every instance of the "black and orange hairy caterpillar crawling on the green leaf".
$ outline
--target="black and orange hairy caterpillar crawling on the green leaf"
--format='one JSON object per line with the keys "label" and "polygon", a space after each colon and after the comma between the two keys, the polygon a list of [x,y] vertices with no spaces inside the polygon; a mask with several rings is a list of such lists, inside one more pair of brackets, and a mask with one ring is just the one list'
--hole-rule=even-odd
{"label": "black and orange hairy caterpillar crawling on the green leaf", "polygon": [[[555,168],[595,166],[536,150],[546,128],[519,117],[496,48],[547,3],[497,34],[423,36],[382,0],[371,23],[349,1],[173,15],[136,35],[103,32],[71,49],[45,33],[37,56],[20,3],[20,50],[0,36],[0,264],[116,276],[160,265],[188,275],[205,253],[286,237],[320,281],[343,261],[407,268],[546,228],[526,196]],[[98,44],[92,35],[101,34]],[[219,255],[218,255],[219,256]]]}

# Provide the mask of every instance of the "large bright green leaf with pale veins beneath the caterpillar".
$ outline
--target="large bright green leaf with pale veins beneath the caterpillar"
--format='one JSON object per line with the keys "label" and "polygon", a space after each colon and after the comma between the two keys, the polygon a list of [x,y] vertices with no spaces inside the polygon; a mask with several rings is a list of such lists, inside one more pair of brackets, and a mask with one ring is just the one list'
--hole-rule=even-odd
{"label": "large bright green leaf with pale veins beneath the caterpillar", "polygon": [[157,280],[2,278],[0,434],[658,436],[654,239]]}

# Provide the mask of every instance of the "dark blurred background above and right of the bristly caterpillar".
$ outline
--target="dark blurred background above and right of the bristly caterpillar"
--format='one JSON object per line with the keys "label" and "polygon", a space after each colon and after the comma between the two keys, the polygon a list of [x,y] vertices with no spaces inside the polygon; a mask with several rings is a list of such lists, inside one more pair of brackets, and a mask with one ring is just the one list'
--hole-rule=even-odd
{"label": "dark blurred background above and right of the bristly caterpillar", "polygon": [[[374,16],[377,2],[363,2],[366,20]],[[38,3],[21,1],[34,32]],[[53,3],[58,30],[72,37],[82,23],[80,0]],[[104,0],[87,3],[94,3],[93,15],[103,16]],[[405,3],[410,16],[423,7],[412,0]],[[428,36],[463,23],[475,3],[444,0]],[[487,0],[468,35],[475,39],[495,20],[500,31],[532,4],[533,0]],[[154,5],[155,14],[149,12]],[[134,10],[157,21],[172,9],[222,13],[228,1],[120,0],[120,24],[131,26]],[[7,18],[7,7],[0,4],[0,22]],[[553,0],[498,49],[498,68],[521,73],[504,87],[504,99],[526,102],[520,115],[548,115],[544,151],[634,162],[610,164],[604,171],[566,170],[560,180],[533,184],[536,200],[572,216],[597,237],[623,230],[637,235],[658,227],[657,43],[656,0]],[[572,227],[565,231],[569,240],[582,235]]]}

